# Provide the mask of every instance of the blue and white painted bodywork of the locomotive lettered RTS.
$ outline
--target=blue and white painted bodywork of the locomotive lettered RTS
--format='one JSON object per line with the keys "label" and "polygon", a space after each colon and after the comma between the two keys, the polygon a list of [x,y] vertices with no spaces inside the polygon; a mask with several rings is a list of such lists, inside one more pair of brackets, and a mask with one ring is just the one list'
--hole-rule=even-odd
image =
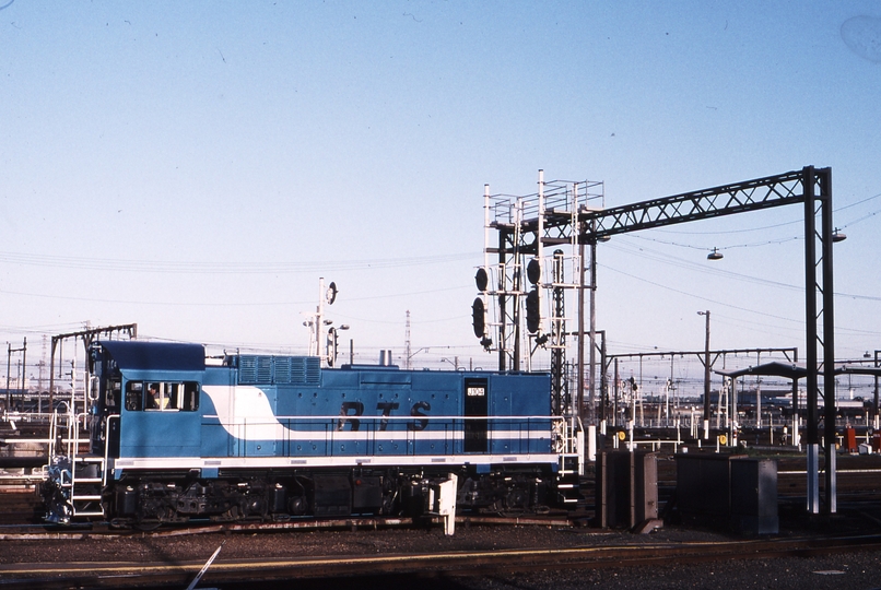
{"label": "blue and white painted bodywork of the locomotive lettered RTS", "polygon": [[[128,381],[200,388],[195,412],[121,404],[110,417],[118,420],[118,449],[107,453],[116,479],[157,468],[211,476],[292,465],[559,464],[561,418],[551,416],[544,374],[328,369],[313,357],[252,355],[211,366],[199,345],[118,341],[101,343],[95,359],[118,369],[122,391]],[[485,394],[485,411],[475,415],[466,408],[469,387]],[[477,442],[466,444],[469,437]]]}

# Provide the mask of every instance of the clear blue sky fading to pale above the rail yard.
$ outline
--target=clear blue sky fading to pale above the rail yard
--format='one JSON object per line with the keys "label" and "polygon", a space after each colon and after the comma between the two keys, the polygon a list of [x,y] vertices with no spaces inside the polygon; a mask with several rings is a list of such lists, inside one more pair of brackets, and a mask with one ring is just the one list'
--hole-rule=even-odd
{"label": "clear blue sky fading to pale above the rail yard", "polygon": [[[881,3],[0,0],[0,342],[304,352],[324,276],[361,359],[493,365],[483,185],[608,206],[831,166],[839,357],[881,349]],[[804,346],[801,210],[615,237],[610,352]],[[725,259],[710,263],[718,247]]]}

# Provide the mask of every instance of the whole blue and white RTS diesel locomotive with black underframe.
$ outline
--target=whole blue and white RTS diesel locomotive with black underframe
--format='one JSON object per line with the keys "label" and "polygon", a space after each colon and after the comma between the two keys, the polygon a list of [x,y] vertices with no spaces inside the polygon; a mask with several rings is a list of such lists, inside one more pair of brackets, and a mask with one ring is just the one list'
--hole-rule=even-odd
{"label": "whole blue and white RTS diesel locomotive with black underframe", "polygon": [[418,516],[450,474],[459,511],[577,499],[578,429],[552,415],[547,374],[324,368],[141,341],[97,342],[90,365],[89,451],[70,416],[43,486],[51,522]]}

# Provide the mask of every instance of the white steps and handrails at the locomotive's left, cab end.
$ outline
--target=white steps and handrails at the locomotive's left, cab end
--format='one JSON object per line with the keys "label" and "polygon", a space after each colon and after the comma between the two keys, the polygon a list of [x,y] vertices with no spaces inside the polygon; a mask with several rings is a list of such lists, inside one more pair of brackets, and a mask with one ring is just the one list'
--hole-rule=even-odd
{"label": "white steps and handrails at the locomotive's left, cab end", "polygon": [[58,482],[71,508],[71,518],[103,517],[104,508],[101,503],[101,491],[106,482],[107,463],[105,457],[96,455],[80,455],[80,420],[85,414],[56,414],[50,423],[49,456],[57,452],[56,440],[58,423],[64,420],[67,437],[60,442],[66,445],[64,455],[70,460],[69,469],[61,472]]}

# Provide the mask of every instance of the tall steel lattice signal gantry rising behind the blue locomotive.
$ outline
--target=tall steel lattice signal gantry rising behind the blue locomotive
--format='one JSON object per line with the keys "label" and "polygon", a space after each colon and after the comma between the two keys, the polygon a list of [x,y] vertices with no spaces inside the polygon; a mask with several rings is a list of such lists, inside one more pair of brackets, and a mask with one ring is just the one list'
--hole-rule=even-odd
{"label": "tall steel lattice signal gantry rising behind the blue locomotive", "polygon": [[[784,206],[802,204],[804,208],[804,297],[806,297],[806,350],[807,350],[807,398],[808,398],[808,509],[820,510],[819,494],[819,448],[824,444],[826,456],[825,511],[835,512],[835,389],[834,389],[834,300],[833,300],[833,223],[832,223],[832,169],[807,166],[801,170],[788,172],[724,185],[715,188],[684,192],[672,197],[651,199],[610,209],[588,206],[590,190],[601,187],[601,182],[584,182],[585,198],[577,194],[574,208],[557,209],[548,206],[548,185],[540,177],[540,191],[537,206],[530,208],[530,197],[491,197],[485,190],[485,232],[496,231],[497,247],[484,248],[484,272],[490,273],[490,253],[497,255],[497,291],[482,290],[482,296],[495,297],[497,316],[492,324],[497,331],[497,340],[484,345],[498,351],[500,370],[518,370],[520,366],[520,309],[525,292],[521,285],[522,260],[526,257],[541,258],[543,246],[572,245],[573,259],[577,259],[583,273],[584,260],[577,251],[589,245],[591,253],[597,241],[616,234],[638,232],[680,223],[720,217]],[[576,184],[577,185],[577,184]],[[595,194],[596,196],[596,194]],[[491,221],[491,211],[496,214]],[[532,214],[530,214],[532,213]],[[490,243],[489,237],[485,241]],[[595,260],[589,262],[591,273]],[[583,274],[582,274],[583,275]],[[544,285],[542,285],[544,286]],[[595,288],[596,284],[590,284]],[[544,287],[548,288],[548,287]],[[584,285],[578,285],[579,320],[578,340],[583,346],[584,337]],[[592,316],[591,316],[592,319]],[[592,322],[591,322],[592,326]],[[475,323],[477,331],[477,323]],[[591,329],[589,345],[595,351],[595,331]],[[584,364],[583,349],[579,347],[579,365]],[[556,366],[559,362],[555,362]],[[594,382],[591,363],[591,384]],[[584,367],[578,368],[579,388],[584,380]],[[590,391],[594,396],[594,388]],[[822,416],[819,400],[823,400]],[[704,420],[708,420],[705,402]],[[579,408],[576,406],[576,410]],[[820,421],[824,423],[823,437],[820,435]]]}

